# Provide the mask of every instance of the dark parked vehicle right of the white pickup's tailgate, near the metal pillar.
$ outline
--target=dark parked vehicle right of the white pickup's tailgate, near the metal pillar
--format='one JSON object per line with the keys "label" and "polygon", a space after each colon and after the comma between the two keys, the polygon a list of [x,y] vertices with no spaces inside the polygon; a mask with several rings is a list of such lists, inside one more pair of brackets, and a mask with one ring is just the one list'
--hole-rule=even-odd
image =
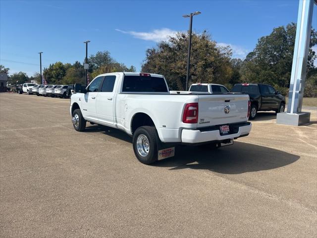
{"label": "dark parked vehicle right of the white pickup's tailgate, near the metal pillar", "polygon": [[255,119],[258,111],[275,111],[282,113],[285,110],[285,97],[267,84],[239,83],[231,89],[233,93],[249,94],[251,101],[250,118]]}

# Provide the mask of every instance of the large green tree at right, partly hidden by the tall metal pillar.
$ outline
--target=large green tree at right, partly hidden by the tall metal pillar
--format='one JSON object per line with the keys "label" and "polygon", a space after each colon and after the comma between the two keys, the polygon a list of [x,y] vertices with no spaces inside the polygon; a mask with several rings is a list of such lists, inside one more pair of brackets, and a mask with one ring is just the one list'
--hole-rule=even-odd
{"label": "large green tree at right, partly hidden by the tall metal pillar", "polygon": [[[241,67],[241,81],[267,83],[287,92],[290,83],[296,36],[296,24],[273,29],[268,36],[258,40]],[[317,33],[312,29],[307,70],[314,69],[316,54],[312,47],[317,44]]]}

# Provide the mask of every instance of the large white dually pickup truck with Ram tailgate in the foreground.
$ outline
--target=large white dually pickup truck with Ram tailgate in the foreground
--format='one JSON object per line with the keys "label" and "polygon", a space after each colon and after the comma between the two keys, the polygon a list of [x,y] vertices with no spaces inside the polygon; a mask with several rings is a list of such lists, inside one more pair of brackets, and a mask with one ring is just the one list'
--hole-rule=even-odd
{"label": "large white dually pickup truck with Ram tailgate in the foreground", "polygon": [[249,96],[237,93],[170,93],[162,75],[116,72],[98,75],[70,100],[72,123],[86,121],[133,136],[137,159],[151,164],[174,156],[177,144],[230,145],[250,133]]}

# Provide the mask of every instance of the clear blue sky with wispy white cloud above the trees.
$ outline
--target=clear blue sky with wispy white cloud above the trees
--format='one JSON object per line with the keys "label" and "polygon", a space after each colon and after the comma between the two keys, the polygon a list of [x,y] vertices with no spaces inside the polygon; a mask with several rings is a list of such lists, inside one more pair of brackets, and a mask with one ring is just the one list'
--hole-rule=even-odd
{"label": "clear blue sky with wispy white cloud above the trees", "polygon": [[[274,27],[297,21],[298,0],[209,1],[9,1],[0,0],[0,64],[9,73],[29,76],[42,66],[74,63],[109,51],[111,57],[140,70],[147,48],[177,31],[207,30],[219,44],[230,44],[233,56],[244,58],[261,36]],[[313,27],[317,28],[317,6]]]}

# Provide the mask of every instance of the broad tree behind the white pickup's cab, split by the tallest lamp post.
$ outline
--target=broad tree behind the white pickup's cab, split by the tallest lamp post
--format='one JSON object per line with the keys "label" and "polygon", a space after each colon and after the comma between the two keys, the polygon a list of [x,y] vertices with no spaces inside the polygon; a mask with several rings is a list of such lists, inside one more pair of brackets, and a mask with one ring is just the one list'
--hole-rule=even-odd
{"label": "broad tree behind the white pickup's cab, split by the tallest lamp post", "polygon": [[[167,42],[148,49],[143,72],[163,74],[170,89],[184,90],[186,83],[188,34],[177,33]],[[229,47],[217,47],[210,35],[193,33],[191,49],[191,83],[222,83],[228,85],[232,75]]]}

